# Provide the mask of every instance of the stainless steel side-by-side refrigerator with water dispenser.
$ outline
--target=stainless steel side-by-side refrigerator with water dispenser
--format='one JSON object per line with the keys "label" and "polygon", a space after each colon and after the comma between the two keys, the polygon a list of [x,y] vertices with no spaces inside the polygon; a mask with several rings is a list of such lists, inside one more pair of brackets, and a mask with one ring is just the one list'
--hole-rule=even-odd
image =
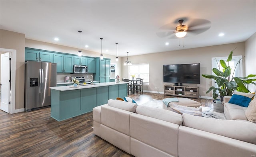
{"label": "stainless steel side-by-side refrigerator with water dispenser", "polygon": [[25,62],[25,110],[29,112],[51,105],[51,90],[56,86],[57,64]]}

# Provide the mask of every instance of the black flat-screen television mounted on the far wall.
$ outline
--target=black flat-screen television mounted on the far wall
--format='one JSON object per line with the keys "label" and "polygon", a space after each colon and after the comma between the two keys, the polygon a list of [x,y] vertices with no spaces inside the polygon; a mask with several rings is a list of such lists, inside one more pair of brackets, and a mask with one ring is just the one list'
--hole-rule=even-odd
{"label": "black flat-screen television mounted on the far wall", "polygon": [[164,82],[200,84],[200,63],[164,65]]}

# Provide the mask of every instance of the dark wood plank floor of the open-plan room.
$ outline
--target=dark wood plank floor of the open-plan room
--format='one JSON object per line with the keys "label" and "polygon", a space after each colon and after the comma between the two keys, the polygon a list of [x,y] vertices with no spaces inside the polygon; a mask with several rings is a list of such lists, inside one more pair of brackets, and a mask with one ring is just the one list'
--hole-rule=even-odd
{"label": "dark wood plank floor of the open-plan room", "polygon": [[[138,104],[171,97],[146,92],[128,96]],[[212,105],[211,100],[198,101],[202,106]],[[0,156],[130,156],[96,136],[92,127],[92,112],[58,122],[50,117],[50,108],[16,114],[0,110]]]}

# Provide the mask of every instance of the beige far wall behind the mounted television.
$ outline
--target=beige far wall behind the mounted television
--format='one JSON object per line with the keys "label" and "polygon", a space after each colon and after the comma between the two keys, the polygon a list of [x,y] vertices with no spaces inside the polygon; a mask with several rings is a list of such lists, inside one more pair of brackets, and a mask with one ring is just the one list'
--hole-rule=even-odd
{"label": "beige far wall behind the mounted television", "polygon": [[[226,45],[216,45],[209,47],[200,47],[194,49],[184,49],[179,51],[169,51],[162,53],[151,53],[147,55],[129,56],[132,64],[149,63],[150,83],[145,85],[143,90],[155,91],[158,87],[159,92],[164,92],[163,83],[163,65],[165,64],[186,64],[200,63],[200,74],[212,74],[212,57],[228,56],[230,51],[236,48],[234,55],[244,56],[244,42],[232,43]],[[122,63],[127,57],[122,57]],[[243,62],[244,63],[244,62]],[[122,65],[122,76],[128,78],[128,66]],[[244,72],[244,71],[243,71]],[[168,83],[165,83],[168,84]],[[171,84],[171,83],[170,83]],[[212,80],[200,77],[200,84],[184,84],[199,86],[199,94],[201,96],[212,96],[206,94],[206,91],[212,86]]]}

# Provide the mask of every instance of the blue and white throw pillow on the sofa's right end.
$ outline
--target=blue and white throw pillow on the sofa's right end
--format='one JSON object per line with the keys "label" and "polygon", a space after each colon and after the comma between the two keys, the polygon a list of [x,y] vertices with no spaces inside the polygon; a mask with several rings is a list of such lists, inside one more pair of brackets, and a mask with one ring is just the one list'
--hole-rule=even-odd
{"label": "blue and white throw pillow on the sofa's right end", "polygon": [[248,107],[254,95],[255,94],[253,93],[244,93],[244,92],[235,91],[231,99],[229,100],[229,103],[236,104],[243,107]]}

